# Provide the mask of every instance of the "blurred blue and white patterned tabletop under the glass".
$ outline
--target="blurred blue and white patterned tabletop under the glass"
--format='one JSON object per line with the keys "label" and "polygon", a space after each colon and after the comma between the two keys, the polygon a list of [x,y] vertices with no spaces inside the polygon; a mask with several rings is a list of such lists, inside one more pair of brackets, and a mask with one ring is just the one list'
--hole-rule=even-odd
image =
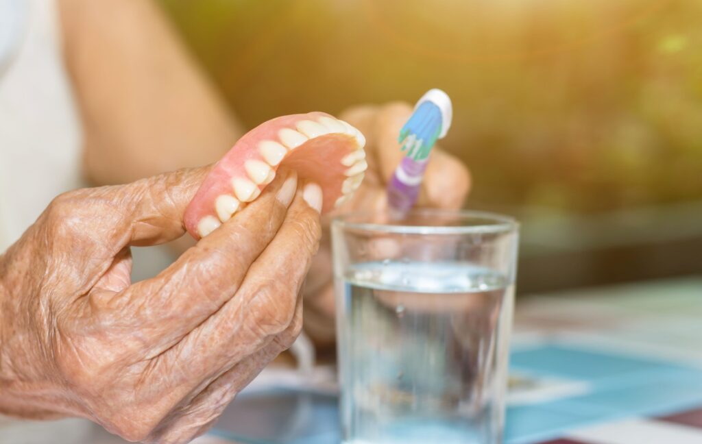
{"label": "blurred blue and white patterned tabletop under the glass", "polygon": [[[702,276],[521,298],[505,443],[702,443],[701,336]],[[271,393],[296,384],[300,389],[294,375],[286,382],[272,372],[230,405],[222,424],[194,442],[264,443],[241,433],[234,438],[232,429],[237,415],[249,408],[247,402],[262,408],[261,400],[277,396]],[[319,369],[310,383],[322,386],[323,394],[313,413],[307,412],[312,419],[308,436],[285,442],[334,442],[336,399],[328,384],[324,389],[332,374]],[[271,380],[279,386],[272,387]],[[57,436],[65,444],[124,443],[80,419],[0,420],[0,444],[55,443]]]}

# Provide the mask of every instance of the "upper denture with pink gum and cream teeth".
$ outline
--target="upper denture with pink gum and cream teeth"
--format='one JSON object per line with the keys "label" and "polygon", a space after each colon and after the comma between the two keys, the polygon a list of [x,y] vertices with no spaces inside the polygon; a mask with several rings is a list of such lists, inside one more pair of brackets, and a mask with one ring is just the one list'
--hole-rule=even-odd
{"label": "upper denture with pink gum and cream teeth", "polygon": [[368,168],[362,133],[323,112],[272,119],[241,137],[218,161],[185,210],[185,228],[207,236],[256,200],[280,166],[322,187],[322,213],[358,189]]}

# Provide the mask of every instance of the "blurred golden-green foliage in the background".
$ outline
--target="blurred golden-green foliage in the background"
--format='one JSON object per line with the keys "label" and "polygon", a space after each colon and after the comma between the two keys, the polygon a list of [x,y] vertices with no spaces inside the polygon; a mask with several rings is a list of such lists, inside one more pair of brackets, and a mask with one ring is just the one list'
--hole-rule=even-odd
{"label": "blurred golden-green foliage in the background", "polygon": [[469,206],[702,199],[698,0],[161,0],[248,126],[453,98]]}

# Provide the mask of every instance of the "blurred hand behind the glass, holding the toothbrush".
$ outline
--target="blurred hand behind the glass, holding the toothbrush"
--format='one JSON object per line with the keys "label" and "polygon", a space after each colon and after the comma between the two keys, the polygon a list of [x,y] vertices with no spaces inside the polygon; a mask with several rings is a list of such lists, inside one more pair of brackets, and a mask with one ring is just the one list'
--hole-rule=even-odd
{"label": "blurred hand behind the glass, holding the toothbrush", "polygon": [[[396,102],[383,106],[355,107],[340,115],[340,119],[351,123],[366,136],[368,170],[353,199],[336,210],[336,214],[387,208],[385,186],[404,156],[400,151],[397,135],[412,111],[410,105]],[[469,189],[468,169],[456,157],[439,147],[434,147],[417,206],[461,208]],[[329,222],[329,219],[325,222]],[[328,224],[325,223],[326,227]],[[334,338],[333,320],[331,245],[329,236],[325,233],[319,254],[312,262],[310,276],[305,284],[305,331],[317,344],[331,344]]]}

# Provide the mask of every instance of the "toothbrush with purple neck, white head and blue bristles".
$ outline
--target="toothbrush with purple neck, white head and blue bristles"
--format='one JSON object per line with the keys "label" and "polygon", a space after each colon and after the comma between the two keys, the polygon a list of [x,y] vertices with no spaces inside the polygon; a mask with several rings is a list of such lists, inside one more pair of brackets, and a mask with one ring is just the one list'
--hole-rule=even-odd
{"label": "toothbrush with purple neck, white head and blue bristles", "polygon": [[388,184],[388,204],[395,213],[404,215],[417,201],[429,154],[449,132],[452,114],[449,95],[435,88],[419,99],[400,130],[397,140],[406,154]]}

